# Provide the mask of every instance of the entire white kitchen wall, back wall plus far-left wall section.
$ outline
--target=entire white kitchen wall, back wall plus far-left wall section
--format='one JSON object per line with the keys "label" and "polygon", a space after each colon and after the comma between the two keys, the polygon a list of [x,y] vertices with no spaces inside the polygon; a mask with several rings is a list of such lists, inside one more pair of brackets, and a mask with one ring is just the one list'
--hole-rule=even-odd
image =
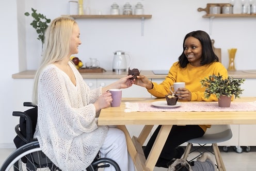
{"label": "entire white kitchen wall, back wall plus far-left wall section", "polygon": [[[88,0],[87,0],[88,1]],[[85,2],[85,7],[87,4]],[[237,0],[238,1],[238,0]],[[140,70],[168,70],[182,53],[183,38],[193,30],[209,32],[209,19],[202,18],[205,12],[198,12],[207,3],[228,3],[227,1],[153,1],[153,0],[117,0],[122,6],[130,2],[133,7],[141,2],[146,19],[144,36],[140,35],[139,19],[79,19],[82,45],[79,57],[83,62],[89,58],[98,58],[101,67],[111,70],[113,52],[125,50],[132,55],[131,67]],[[113,1],[90,1],[91,14],[108,14]],[[0,50],[2,55],[0,89],[0,148],[12,143],[14,131],[12,111],[22,110],[21,104],[13,104],[13,99],[29,100],[15,96],[15,80],[11,74],[23,70],[36,70],[41,55],[41,42],[37,40],[35,29],[30,26],[32,18],[24,12],[33,7],[38,12],[54,19],[68,14],[68,0],[18,0],[4,1],[0,6]],[[19,7],[19,8],[17,8]],[[235,5],[239,12],[239,3]],[[255,69],[255,28],[256,18],[216,18],[213,20],[211,38],[215,47],[222,49],[222,63],[228,67],[228,48],[237,48],[235,67],[237,70]],[[24,80],[24,85],[26,82]]]}

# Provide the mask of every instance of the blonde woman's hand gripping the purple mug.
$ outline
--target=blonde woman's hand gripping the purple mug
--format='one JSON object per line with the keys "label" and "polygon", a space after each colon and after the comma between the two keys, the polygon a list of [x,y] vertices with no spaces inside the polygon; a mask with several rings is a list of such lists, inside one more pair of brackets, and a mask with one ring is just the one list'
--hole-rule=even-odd
{"label": "blonde woman's hand gripping the purple mug", "polygon": [[113,99],[109,91],[100,95],[98,100],[93,104],[95,106],[96,112],[100,111],[102,108],[109,107],[111,101],[113,101]]}

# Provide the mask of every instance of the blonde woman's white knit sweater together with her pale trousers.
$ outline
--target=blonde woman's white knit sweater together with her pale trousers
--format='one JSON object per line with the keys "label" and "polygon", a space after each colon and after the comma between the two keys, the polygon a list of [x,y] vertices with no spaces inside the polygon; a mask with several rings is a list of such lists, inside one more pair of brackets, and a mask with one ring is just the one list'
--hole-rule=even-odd
{"label": "blonde woman's white knit sweater together with her pale trousers", "polygon": [[93,103],[102,89],[90,90],[69,62],[76,86],[54,64],[45,67],[38,82],[38,122],[34,137],[42,151],[61,170],[85,170],[103,144],[108,128],[95,121]]}

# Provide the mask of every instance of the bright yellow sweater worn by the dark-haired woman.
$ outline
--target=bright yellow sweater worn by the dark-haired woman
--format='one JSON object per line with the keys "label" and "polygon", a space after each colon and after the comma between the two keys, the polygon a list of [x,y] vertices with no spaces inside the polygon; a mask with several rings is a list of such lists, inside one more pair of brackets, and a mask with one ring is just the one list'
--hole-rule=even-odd
{"label": "bright yellow sweater worn by the dark-haired woman", "polygon": [[[191,92],[191,101],[217,101],[218,99],[215,95],[211,95],[208,99],[204,97],[205,87],[202,87],[200,80],[213,74],[218,75],[218,73],[223,78],[228,77],[227,69],[220,62],[213,62],[198,67],[188,63],[185,68],[180,67],[178,62],[175,62],[171,66],[165,80],[160,84],[153,82],[154,87],[148,90],[148,92],[155,97],[163,98],[170,92],[173,82],[185,82],[185,88]],[[200,127],[206,131],[206,128],[210,128],[211,126],[200,125]]]}

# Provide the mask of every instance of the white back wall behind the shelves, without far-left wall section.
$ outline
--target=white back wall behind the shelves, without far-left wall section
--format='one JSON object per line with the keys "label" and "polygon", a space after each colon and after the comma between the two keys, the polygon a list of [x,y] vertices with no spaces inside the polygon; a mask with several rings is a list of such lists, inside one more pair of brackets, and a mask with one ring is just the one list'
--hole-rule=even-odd
{"label": "white back wall behind the shelves, without far-left wall section", "polygon": [[[133,7],[140,0],[130,0]],[[86,8],[88,0],[84,0]],[[127,0],[115,1],[122,9]],[[205,30],[209,33],[209,19],[202,18],[205,11],[198,12],[199,7],[205,8],[207,3],[228,3],[229,1],[140,1],[145,14],[152,14],[152,19],[145,21],[145,36],[140,35],[139,19],[79,19],[82,45],[79,46],[77,57],[85,63],[89,58],[98,58],[101,67],[112,69],[113,52],[126,50],[132,55],[131,67],[140,70],[168,70],[182,53],[183,38],[193,30]],[[91,13],[109,14],[112,1],[89,1]],[[56,6],[58,8],[56,8]],[[54,19],[68,13],[68,0],[27,0],[25,11],[34,7]],[[239,11],[239,3],[235,12]],[[23,12],[25,12],[23,11]],[[21,15],[21,18],[25,16]],[[26,56],[27,69],[37,69],[36,60],[40,57],[40,41],[36,40],[37,33],[29,23],[30,17],[25,18],[26,27]],[[254,40],[256,18],[216,18],[213,20],[211,38],[215,47],[222,49],[222,63],[228,67],[228,48],[237,48],[235,65],[237,70],[255,69]],[[246,59],[246,60],[245,60]]]}

